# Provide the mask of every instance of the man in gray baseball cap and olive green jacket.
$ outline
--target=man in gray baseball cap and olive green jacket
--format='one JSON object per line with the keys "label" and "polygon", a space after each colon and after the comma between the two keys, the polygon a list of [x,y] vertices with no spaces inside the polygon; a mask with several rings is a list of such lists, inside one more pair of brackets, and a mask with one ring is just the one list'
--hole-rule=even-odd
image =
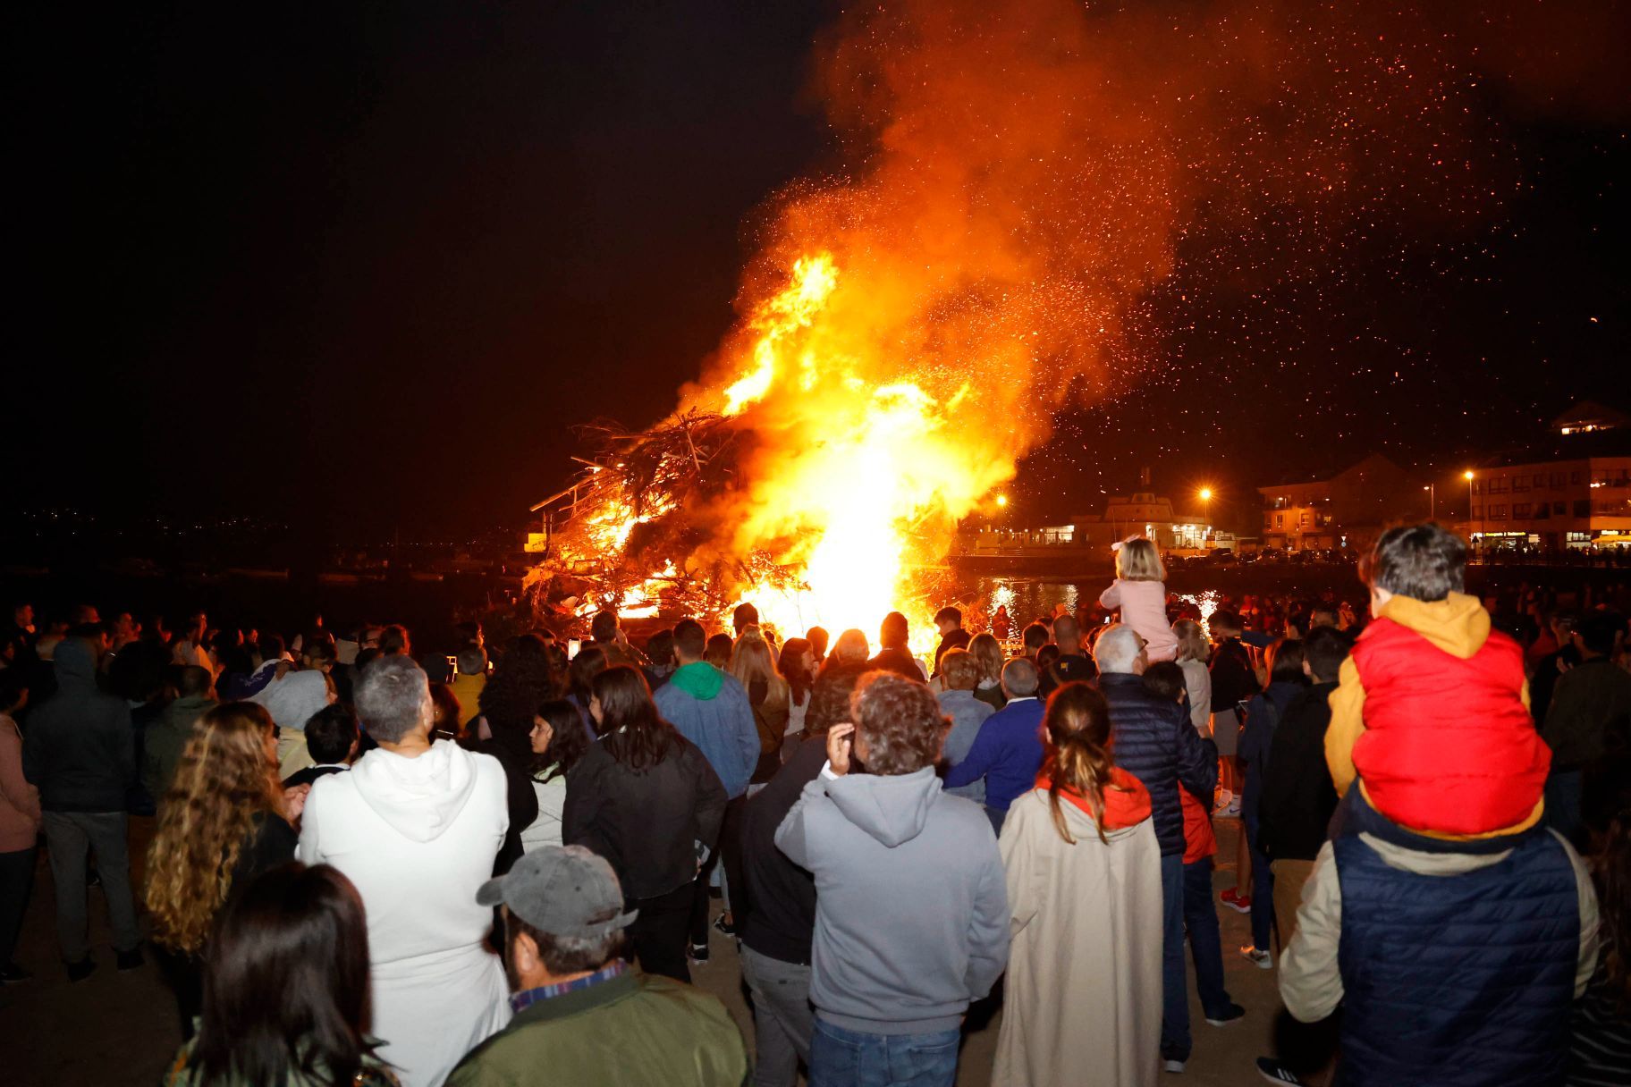
{"label": "man in gray baseball cap and olive green jacket", "polygon": [[582,846],[545,846],[476,891],[504,906],[515,1019],[470,1051],[450,1087],[739,1087],[747,1050],[724,1006],[623,960],[623,890]]}

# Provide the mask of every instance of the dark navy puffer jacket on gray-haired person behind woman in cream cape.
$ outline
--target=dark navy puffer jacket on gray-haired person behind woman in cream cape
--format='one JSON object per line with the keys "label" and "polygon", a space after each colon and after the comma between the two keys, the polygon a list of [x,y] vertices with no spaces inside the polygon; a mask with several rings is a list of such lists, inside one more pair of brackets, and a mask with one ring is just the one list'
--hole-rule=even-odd
{"label": "dark navy puffer jacket on gray-haired person behind woman in cream cape", "polygon": [[1182,854],[1184,808],[1178,800],[1178,782],[1197,797],[1210,797],[1218,784],[1217,746],[1200,738],[1189,722],[1189,711],[1147,691],[1138,676],[1104,673],[1099,691],[1111,704],[1116,764],[1150,790],[1161,856]]}

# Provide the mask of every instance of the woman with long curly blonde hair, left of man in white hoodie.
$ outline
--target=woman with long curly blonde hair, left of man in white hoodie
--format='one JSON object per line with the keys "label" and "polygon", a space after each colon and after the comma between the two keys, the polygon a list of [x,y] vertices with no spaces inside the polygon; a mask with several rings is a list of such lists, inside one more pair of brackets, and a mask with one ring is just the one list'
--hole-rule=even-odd
{"label": "woman with long curly blonde hair, left of man in white hoodie", "polygon": [[236,888],[294,859],[290,823],[310,789],[277,781],[277,730],[264,706],[217,706],[192,727],[158,807],[145,893],[184,1035],[202,1006],[202,952],[215,914]]}

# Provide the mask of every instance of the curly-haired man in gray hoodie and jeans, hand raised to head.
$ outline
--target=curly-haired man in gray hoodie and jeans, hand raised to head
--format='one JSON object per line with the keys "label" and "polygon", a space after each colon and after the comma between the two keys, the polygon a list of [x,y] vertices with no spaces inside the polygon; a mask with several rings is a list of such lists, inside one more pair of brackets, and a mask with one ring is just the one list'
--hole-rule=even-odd
{"label": "curly-haired man in gray hoodie and jeans, hand raised to head", "polygon": [[926,686],[863,676],[850,719],[776,830],[816,875],[809,1082],[949,1087],[962,1017],[1008,963],[997,836],[939,787],[946,719]]}

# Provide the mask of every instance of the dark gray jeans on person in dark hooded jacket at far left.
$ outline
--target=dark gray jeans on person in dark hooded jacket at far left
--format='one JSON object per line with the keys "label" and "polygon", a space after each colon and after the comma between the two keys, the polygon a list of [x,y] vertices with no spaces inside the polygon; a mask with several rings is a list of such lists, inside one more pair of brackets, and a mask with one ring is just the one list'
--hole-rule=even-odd
{"label": "dark gray jeans on person in dark hooded jacket at far left", "polygon": [[113,945],[134,952],[142,942],[135,927],[135,900],[130,896],[130,852],[126,843],[124,812],[46,812],[46,847],[51,877],[57,885],[57,942],[62,960],[77,963],[88,947],[85,901],[85,856],[96,854],[96,874],[108,900]]}

